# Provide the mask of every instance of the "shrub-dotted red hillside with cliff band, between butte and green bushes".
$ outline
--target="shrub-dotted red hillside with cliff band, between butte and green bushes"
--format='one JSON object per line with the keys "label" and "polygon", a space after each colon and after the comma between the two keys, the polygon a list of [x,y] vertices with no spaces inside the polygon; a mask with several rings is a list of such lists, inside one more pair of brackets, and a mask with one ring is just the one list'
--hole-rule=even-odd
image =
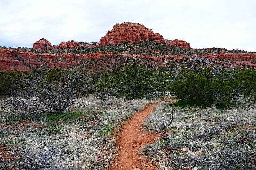
{"label": "shrub-dotted red hillside with cliff band, between butte and green bushes", "polygon": [[[81,42],[79,43],[81,44]],[[160,69],[165,72],[173,72],[180,68],[182,57],[191,55],[212,57],[221,67],[253,69],[256,66],[256,52],[222,48],[186,49],[167,46],[155,41],[93,48],[80,46],[76,49],[1,47],[1,51],[2,59],[6,60],[5,63],[13,64],[6,68],[4,65],[1,66],[4,71],[16,69],[30,72],[33,70],[49,71],[56,68],[78,68],[87,70],[90,75],[98,77],[104,76],[108,70],[117,73],[130,62],[145,65],[148,70]]]}

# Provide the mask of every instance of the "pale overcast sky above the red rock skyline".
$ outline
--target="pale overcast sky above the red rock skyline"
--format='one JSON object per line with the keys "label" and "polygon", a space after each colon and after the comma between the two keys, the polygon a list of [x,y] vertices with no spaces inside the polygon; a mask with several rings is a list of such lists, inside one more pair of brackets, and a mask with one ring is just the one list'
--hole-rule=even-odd
{"label": "pale overcast sky above the red rock skyline", "polygon": [[116,23],[134,22],[191,48],[253,52],[255,7],[255,0],[0,0],[0,46],[98,42]]}

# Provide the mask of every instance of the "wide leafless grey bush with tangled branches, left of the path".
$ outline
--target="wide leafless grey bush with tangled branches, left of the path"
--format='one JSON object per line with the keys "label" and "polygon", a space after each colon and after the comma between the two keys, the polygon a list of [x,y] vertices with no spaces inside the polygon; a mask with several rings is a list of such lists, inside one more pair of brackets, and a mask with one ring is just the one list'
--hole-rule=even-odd
{"label": "wide leafless grey bush with tangled branches, left of the path", "polygon": [[79,70],[56,72],[48,73],[48,77],[36,74],[19,81],[19,91],[16,91],[14,97],[6,100],[4,107],[21,114],[36,114],[60,113],[74,104],[85,106],[86,104],[78,101],[78,98],[88,94],[92,88],[92,80],[88,75]]}

